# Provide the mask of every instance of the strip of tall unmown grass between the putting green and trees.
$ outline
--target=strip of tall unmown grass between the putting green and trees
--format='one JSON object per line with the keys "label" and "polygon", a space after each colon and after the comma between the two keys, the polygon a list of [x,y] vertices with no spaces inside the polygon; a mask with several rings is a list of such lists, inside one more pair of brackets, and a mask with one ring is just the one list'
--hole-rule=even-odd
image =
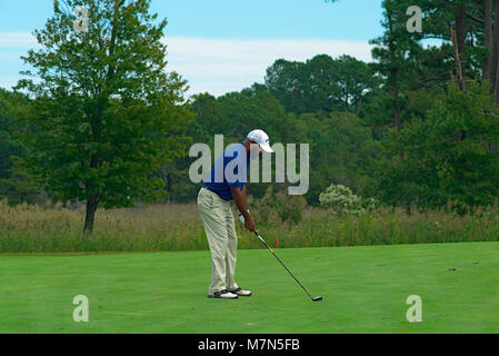
{"label": "strip of tall unmown grass between the putting green and trees", "polygon": [[[258,217],[258,211],[255,211]],[[196,205],[99,210],[94,234],[82,234],[84,210],[0,202],[0,253],[161,251],[208,249]],[[263,221],[261,219],[260,221]],[[499,240],[499,209],[473,216],[379,209],[338,217],[308,207],[298,224],[271,216],[257,227],[278,247],[321,247]],[[239,248],[260,243],[237,221]]]}

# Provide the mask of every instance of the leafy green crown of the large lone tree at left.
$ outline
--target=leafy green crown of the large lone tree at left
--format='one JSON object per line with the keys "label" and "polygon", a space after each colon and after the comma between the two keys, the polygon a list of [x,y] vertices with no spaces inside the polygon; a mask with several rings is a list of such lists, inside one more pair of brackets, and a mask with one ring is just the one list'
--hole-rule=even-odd
{"label": "leafy green crown of the large lone tree at left", "polygon": [[[19,85],[33,99],[26,159],[49,191],[93,211],[156,199],[163,182],[148,172],[183,154],[183,135],[170,132],[188,117],[186,82],[166,72],[167,21],[149,13],[150,0],[64,4],[54,1],[53,17],[34,31],[41,49],[23,57],[40,78]],[[72,29],[66,9],[76,6],[89,9],[88,32]]]}

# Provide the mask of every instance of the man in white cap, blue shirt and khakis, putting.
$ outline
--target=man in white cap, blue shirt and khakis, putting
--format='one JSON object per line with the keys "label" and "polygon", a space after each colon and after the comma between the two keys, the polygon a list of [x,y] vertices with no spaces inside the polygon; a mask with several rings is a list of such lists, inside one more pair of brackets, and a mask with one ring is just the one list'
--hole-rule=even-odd
{"label": "man in white cap, blue shirt and khakis, putting", "polygon": [[217,158],[199,190],[198,209],[211,251],[208,298],[251,296],[251,290],[242,289],[234,280],[238,237],[230,201],[233,200],[242,214],[244,227],[255,231],[256,225],[247,208],[246,182],[251,158],[263,151],[273,152],[269,136],[262,130],[249,132],[244,141],[231,145]]}

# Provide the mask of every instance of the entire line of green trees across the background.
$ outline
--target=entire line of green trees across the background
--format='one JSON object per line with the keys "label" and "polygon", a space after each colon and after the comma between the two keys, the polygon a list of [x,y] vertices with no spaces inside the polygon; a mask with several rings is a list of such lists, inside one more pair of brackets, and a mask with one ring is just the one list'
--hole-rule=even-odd
{"label": "entire line of green trees across the background", "polygon": [[[87,32],[71,27],[77,2]],[[373,62],[278,59],[263,83],[186,99],[150,0],[56,0],[36,31],[41,49],[23,57],[39,79],[0,90],[0,196],[84,201],[91,231],[98,207],[196,199],[189,146],[262,128],[273,142],[310,144],[311,205],[332,182],[408,212],[495,204],[499,1],[421,0],[421,32],[407,30],[411,4],[382,2]]]}

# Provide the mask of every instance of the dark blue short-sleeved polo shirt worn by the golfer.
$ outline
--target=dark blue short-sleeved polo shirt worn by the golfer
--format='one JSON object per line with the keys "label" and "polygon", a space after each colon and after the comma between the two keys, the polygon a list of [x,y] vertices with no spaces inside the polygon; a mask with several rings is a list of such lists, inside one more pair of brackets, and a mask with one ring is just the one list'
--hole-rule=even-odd
{"label": "dark blue short-sleeved polo shirt worn by the golfer", "polygon": [[202,184],[220,198],[232,200],[230,188],[239,187],[242,190],[248,181],[249,164],[250,157],[242,142],[231,145],[217,158],[210,176],[203,179]]}

